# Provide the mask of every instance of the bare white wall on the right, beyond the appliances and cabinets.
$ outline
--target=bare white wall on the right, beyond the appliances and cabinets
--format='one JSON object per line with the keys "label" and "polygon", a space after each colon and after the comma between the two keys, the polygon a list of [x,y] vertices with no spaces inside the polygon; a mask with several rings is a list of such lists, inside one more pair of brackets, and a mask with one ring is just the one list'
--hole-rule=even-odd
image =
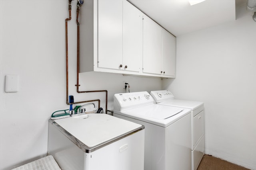
{"label": "bare white wall on the right, beyond the appliances and cabinets", "polygon": [[204,102],[205,152],[256,169],[256,22],[236,21],[177,37],[175,79],[163,89],[176,99]]}

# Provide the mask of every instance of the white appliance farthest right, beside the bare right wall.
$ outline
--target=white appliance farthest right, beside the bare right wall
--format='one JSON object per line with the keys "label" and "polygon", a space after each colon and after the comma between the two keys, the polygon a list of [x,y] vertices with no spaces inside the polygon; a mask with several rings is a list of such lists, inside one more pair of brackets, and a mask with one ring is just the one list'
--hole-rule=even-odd
{"label": "white appliance farthest right, beside the bare right wall", "polygon": [[191,109],[191,162],[192,170],[196,170],[204,156],[204,103],[176,100],[169,90],[152,91],[150,94],[156,104]]}

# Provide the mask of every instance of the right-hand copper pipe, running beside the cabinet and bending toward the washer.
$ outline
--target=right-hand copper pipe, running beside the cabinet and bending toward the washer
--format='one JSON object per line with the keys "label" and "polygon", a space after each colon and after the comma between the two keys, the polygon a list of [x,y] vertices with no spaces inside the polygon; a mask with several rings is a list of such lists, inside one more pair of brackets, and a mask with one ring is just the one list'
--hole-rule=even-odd
{"label": "right-hand copper pipe, running beside the cabinet and bending toward the washer", "polygon": [[[80,51],[79,51],[79,47],[80,47],[80,29],[79,29],[79,12],[80,12],[80,6],[83,4],[82,0],[78,0],[77,2],[77,9],[76,9],[76,25],[77,25],[77,79],[76,79],[76,92],[78,93],[90,93],[90,92],[105,92],[106,93],[106,111],[105,113],[107,113],[108,111],[108,90],[94,90],[94,91],[79,91],[79,59],[80,59]],[[112,113],[112,111],[110,111]]]}

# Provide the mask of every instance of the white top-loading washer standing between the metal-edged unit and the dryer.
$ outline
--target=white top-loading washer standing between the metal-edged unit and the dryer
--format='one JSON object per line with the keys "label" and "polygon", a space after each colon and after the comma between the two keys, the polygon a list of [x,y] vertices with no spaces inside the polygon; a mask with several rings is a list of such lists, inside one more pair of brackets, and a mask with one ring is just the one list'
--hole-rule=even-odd
{"label": "white top-loading washer standing between the metal-edged unit and the dryer", "polygon": [[144,170],[191,169],[190,109],[154,104],[148,92],[114,95],[114,116],[145,126]]}

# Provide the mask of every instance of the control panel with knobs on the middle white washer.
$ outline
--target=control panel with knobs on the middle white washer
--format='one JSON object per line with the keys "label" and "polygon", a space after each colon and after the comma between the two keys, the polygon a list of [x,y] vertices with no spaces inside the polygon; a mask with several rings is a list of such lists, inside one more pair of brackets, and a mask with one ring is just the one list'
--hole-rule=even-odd
{"label": "control panel with knobs on the middle white washer", "polygon": [[120,93],[114,95],[114,110],[124,111],[153,104],[154,99],[148,92]]}

